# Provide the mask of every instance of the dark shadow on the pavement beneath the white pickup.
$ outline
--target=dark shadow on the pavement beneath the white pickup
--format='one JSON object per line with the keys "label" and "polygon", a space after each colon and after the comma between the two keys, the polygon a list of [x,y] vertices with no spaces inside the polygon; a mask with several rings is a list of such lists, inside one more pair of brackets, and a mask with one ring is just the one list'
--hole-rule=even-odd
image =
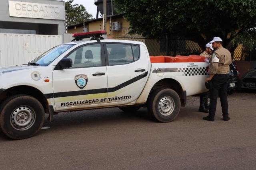
{"label": "dark shadow on the pavement beneath the white pickup", "polygon": [[[141,123],[150,122],[155,123],[148,115],[146,108],[141,108],[134,113],[126,113],[118,108],[94,109],[84,111],[62,112],[53,116],[53,121],[47,120],[48,115],[45,115],[43,127],[50,127],[47,130],[41,130],[39,133],[48,133],[49,131],[57,131],[71,129],[71,128],[97,128],[100,126],[122,124],[124,122]],[[0,130],[0,142],[11,140],[4,135]]]}

